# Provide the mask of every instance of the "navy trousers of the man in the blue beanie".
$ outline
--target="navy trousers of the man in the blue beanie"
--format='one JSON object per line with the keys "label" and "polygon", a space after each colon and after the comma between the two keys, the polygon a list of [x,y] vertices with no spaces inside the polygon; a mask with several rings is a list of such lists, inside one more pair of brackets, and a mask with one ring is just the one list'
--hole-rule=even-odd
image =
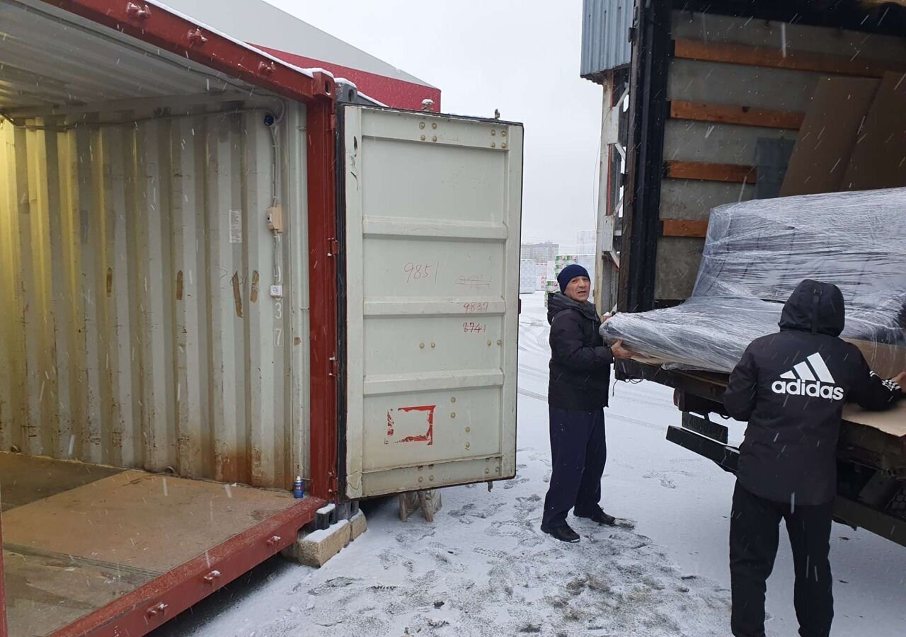
{"label": "navy trousers of the man in the blue beanie", "polygon": [[551,422],[551,484],[543,528],[566,524],[566,514],[590,516],[600,508],[601,477],[607,461],[604,410],[548,407]]}

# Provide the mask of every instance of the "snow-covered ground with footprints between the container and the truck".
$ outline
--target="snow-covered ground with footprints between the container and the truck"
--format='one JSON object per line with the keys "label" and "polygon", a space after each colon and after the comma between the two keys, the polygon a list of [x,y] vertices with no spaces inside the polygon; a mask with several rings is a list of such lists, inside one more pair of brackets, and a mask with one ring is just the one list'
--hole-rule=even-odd
{"label": "snow-covered ground with footprints between the container and the truck", "polygon": [[[157,637],[298,635],[728,635],[733,478],[664,439],[669,390],[617,383],[607,415],[604,510],[616,527],[573,520],[564,545],[538,529],[550,477],[547,323],[523,296],[518,475],[443,492],[434,524],[400,522],[395,502],[320,570],[280,558],[199,604]],[[740,439],[742,428],[731,429]],[[768,634],[795,635],[792,559],[782,532],[768,582]],[[906,631],[906,549],[834,526],[834,635]]]}

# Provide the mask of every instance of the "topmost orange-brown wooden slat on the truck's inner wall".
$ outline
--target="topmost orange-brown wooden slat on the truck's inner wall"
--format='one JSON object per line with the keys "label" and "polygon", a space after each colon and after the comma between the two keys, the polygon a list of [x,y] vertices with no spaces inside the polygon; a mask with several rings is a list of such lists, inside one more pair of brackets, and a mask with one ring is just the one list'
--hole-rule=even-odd
{"label": "topmost orange-brown wooden slat on the truck's inner wall", "polygon": [[904,63],[872,60],[870,55],[849,57],[789,50],[785,54],[779,46],[769,49],[743,44],[685,39],[674,40],[673,44],[674,56],[683,60],[742,64],[854,77],[880,78],[885,72],[906,72]]}

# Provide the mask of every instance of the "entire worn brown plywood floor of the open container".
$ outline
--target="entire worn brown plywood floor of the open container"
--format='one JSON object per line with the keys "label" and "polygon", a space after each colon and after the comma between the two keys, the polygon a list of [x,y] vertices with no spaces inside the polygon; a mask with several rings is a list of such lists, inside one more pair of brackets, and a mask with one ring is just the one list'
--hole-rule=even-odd
{"label": "entire worn brown plywood floor of the open container", "polygon": [[6,453],[0,489],[11,637],[47,635],[294,504],[284,491]]}

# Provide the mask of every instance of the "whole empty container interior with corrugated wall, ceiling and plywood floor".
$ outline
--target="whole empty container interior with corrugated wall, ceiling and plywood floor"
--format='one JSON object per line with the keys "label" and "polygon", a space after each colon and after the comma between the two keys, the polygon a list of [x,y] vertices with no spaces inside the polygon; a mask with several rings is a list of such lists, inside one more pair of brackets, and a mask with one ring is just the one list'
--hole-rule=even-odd
{"label": "whole empty container interior with corrugated wall, ceiling and plywood floor", "polygon": [[0,32],[6,600],[43,635],[308,476],[305,108],[35,0]]}

